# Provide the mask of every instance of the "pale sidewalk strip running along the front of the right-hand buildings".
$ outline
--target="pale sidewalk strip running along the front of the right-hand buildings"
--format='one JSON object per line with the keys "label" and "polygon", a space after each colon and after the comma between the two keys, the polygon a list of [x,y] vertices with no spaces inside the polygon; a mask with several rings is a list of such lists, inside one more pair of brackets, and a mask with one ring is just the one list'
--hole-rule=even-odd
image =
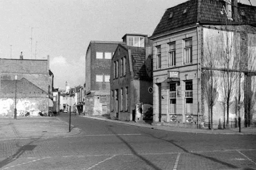
{"label": "pale sidewalk strip running along the front of the right-hand buildings", "polygon": [[194,128],[182,128],[182,127],[174,127],[174,126],[162,126],[162,125],[150,125],[148,123],[138,123],[138,122],[125,122],[119,120],[108,119],[103,116],[81,116],[91,119],[103,120],[108,122],[122,123],[131,126],[144,127],[150,129],[159,129],[166,131],[175,131],[175,132],[188,132],[188,133],[205,133],[205,134],[234,134],[234,135],[256,135],[256,128],[241,128],[241,132],[239,133],[239,128],[230,128],[230,129],[194,129]]}

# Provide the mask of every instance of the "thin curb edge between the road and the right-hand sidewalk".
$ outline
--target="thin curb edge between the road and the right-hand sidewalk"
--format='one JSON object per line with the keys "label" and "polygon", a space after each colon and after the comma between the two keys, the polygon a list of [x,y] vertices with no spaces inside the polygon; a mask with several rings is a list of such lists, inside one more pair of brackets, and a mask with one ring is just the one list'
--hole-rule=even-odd
{"label": "thin curb edge between the road and the right-hand sidewalk", "polygon": [[[255,133],[239,133],[239,132],[234,132],[234,133],[228,133],[228,132],[188,132],[188,131],[180,131],[180,130],[173,130],[173,129],[162,129],[156,126],[152,126],[152,127],[147,127],[147,126],[143,126],[143,125],[136,125],[136,124],[127,124],[125,122],[122,121],[116,121],[116,120],[110,120],[110,119],[104,119],[104,118],[98,118],[98,117],[91,117],[91,116],[80,116],[80,117],[85,117],[85,118],[89,118],[89,119],[95,119],[95,120],[103,120],[106,122],[114,122],[114,123],[120,123],[120,124],[125,124],[125,125],[129,125],[129,126],[136,126],[136,127],[142,127],[142,128],[148,128],[148,129],[156,129],[156,130],[164,130],[164,131],[172,131],[172,132],[184,132],[184,133],[195,133],[195,134],[212,134],[212,135],[256,135]],[[164,126],[165,127],[165,126]]]}

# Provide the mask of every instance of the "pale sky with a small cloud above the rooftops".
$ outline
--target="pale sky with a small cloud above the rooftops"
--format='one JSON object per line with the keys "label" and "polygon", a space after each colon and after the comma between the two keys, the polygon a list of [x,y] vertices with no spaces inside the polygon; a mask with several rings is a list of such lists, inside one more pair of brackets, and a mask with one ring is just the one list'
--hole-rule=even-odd
{"label": "pale sky with a small cloud above the rooftops", "polygon": [[24,59],[49,55],[55,88],[65,89],[66,81],[83,85],[90,41],[122,41],[125,33],[150,36],[165,10],[185,1],[0,0],[0,58],[19,59],[21,51]]}

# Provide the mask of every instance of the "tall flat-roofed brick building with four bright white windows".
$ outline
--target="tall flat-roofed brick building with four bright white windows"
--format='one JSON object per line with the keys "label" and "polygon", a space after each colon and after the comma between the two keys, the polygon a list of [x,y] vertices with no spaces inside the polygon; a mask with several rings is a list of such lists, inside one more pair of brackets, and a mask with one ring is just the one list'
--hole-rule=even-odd
{"label": "tall flat-roofed brick building with four bright white windows", "polygon": [[110,64],[118,44],[114,41],[91,41],[86,51],[84,112],[103,115],[110,112]]}

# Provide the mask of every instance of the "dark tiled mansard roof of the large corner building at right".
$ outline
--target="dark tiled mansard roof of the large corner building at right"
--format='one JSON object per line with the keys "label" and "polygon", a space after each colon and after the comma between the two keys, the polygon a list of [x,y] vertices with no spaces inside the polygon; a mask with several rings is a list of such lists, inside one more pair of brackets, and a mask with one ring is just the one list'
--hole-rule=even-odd
{"label": "dark tiled mansard roof of the large corner building at right", "polygon": [[[165,11],[151,38],[199,24],[248,24],[256,26],[256,7],[238,3],[237,20],[228,20],[223,0],[189,0]],[[184,9],[187,12],[184,13]],[[223,14],[221,14],[221,11]],[[244,11],[244,16],[241,14]],[[170,14],[172,13],[172,17]]]}

